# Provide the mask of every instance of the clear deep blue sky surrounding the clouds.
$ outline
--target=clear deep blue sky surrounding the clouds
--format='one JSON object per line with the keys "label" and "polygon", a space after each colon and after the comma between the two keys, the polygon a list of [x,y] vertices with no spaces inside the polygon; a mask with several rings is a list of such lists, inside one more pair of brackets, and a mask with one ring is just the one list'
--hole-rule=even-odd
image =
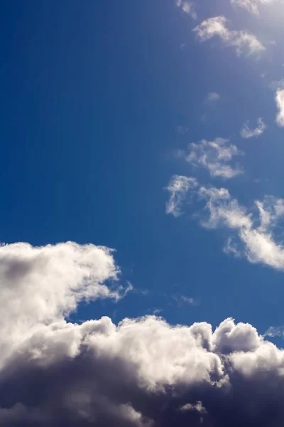
{"label": "clear deep blue sky surrounding the clouds", "polygon": [[[271,44],[266,58],[238,58],[191,31],[222,13],[269,43],[281,38],[280,22],[221,1],[204,1],[198,21],[173,0],[11,0],[0,12],[1,241],[115,248],[121,283],[136,290],[115,305],[83,305],[79,319],[156,307],[173,323],[283,325],[283,273],[224,255],[222,231],[165,215],[170,176],[192,173],[173,152],[202,138],[229,136],[246,150],[246,174],[227,184],[241,202],[284,196],[269,88],[282,78],[283,52]],[[204,103],[209,92],[220,95],[216,107]],[[257,117],[266,134],[241,140],[241,125]],[[179,306],[176,293],[199,304]]]}

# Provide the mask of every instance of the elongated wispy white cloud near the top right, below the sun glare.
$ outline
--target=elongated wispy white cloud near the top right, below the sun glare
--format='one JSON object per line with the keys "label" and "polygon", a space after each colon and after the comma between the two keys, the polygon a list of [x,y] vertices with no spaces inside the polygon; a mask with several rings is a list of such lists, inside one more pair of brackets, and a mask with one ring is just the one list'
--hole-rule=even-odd
{"label": "elongated wispy white cloud near the top right, below the sun glare", "polygon": [[236,48],[237,56],[258,55],[265,51],[265,47],[256,36],[246,31],[229,30],[226,23],[227,20],[224,16],[215,16],[202,21],[193,31],[200,41],[207,41],[215,36],[219,37],[225,46]]}

